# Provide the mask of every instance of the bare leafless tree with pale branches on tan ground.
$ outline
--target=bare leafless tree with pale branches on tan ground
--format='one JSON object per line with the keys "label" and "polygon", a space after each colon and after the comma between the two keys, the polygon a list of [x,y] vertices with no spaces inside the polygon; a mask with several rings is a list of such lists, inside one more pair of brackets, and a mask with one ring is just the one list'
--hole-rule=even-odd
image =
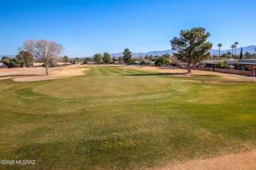
{"label": "bare leafless tree with pale branches on tan ground", "polygon": [[45,64],[46,74],[48,73],[49,64],[53,62],[53,59],[62,54],[64,48],[62,44],[58,44],[54,41],[28,39],[23,43],[20,50],[26,50],[30,52],[35,58],[43,61]]}

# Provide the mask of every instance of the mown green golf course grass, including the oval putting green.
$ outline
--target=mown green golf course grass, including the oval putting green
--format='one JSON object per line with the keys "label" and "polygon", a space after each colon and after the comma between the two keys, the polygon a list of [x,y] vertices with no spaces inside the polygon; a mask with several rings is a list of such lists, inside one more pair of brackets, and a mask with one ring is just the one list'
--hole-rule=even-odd
{"label": "mown green golf course grass, including the oval putting green", "polygon": [[90,68],[0,80],[0,159],[35,160],[0,169],[140,169],[256,148],[255,83],[128,69],[124,83],[123,69]]}

